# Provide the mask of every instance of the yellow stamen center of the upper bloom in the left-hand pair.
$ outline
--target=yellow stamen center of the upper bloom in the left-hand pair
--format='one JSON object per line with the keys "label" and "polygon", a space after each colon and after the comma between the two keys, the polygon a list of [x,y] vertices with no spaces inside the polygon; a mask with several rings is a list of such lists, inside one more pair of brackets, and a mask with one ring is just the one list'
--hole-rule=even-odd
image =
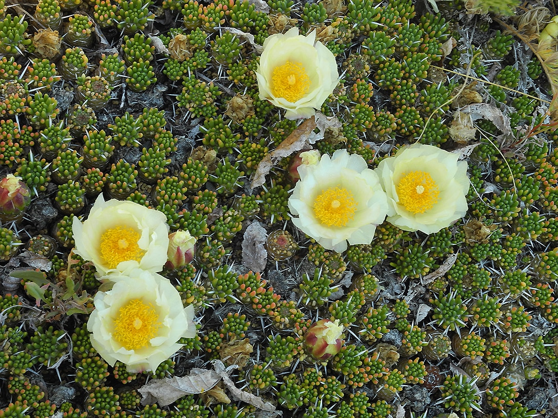
{"label": "yellow stamen center of the upper bloom in the left-hand pair", "polygon": [[120,226],[110,228],[101,235],[100,253],[109,269],[116,269],[121,261],[141,261],[145,251],[138,246],[140,233]]}

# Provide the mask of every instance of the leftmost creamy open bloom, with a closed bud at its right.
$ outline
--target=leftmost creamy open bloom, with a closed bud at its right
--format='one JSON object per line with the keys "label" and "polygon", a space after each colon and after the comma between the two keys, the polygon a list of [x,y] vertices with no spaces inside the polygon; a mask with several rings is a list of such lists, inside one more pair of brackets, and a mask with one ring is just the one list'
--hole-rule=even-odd
{"label": "leftmost creamy open bloom, with a closed bud at its right", "polygon": [[162,212],[138,203],[105,202],[99,195],[89,217],[74,217],[75,252],[92,261],[97,271],[124,271],[140,267],[160,271],[167,261],[169,226]]}

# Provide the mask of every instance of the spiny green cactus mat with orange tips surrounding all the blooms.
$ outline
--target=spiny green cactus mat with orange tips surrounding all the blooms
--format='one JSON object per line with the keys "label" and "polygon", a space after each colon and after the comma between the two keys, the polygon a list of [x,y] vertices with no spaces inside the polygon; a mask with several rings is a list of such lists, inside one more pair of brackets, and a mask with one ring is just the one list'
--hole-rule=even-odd
{"label": "spiny green cactus mat with orange tips surrounding all the blooms", "polygon": [[[152,378],[213,359],[242,365],[234,384],[285,417],[555,417],[558,131],[525,40],[556,12],[502,16],[513,7],[0,1],[0,174],[32,191],[0,230],[0,417],[264,416],[227,389],[140,402]],[[293,26],[316,30],[341,74],[320,109],[340,127],[314,149],[370,168],[406,144],[458,150],[463,219],[430,235],[386,222],[336,254],[290,222],[294,156],[251,188],[300,123],[259,99],[254,44]],[[99,282],[71,252],[71,220],[99,193],[198,239],[192,264],[162,272],[195,306],[198,337],[154,373],[111,367],[89,342]],[[247,230],[268,236],[255,259]],[[324,318],[346,330],[322,364],[301,341]]]}

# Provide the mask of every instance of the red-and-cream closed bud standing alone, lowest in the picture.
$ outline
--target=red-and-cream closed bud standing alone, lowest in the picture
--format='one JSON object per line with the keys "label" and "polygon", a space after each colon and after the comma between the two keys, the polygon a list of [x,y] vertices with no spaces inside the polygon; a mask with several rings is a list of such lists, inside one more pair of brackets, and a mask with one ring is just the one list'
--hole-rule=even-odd
{"label": "red-and-cream closed bud standing alone, lowest in the picture", "polygon": [[342,334],[343,325],[339,325],[339,319],[320,319],[304,334],[306,353],[318,361],[326,361],[341,350]]}

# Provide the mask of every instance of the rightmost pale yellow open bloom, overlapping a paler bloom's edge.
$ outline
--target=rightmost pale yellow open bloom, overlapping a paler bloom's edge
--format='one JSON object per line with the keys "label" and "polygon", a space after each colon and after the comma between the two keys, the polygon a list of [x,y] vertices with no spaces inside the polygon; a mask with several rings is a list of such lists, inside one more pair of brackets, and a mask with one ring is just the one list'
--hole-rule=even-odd
{"label": "rightmost pale yellow open bloom, overlapping a paler bloom's edge", "polygon": [[432,234],[467,211],[467,163],[458,154],[414,144],[376,169],[389,203],[387,221],[405,231]]}

